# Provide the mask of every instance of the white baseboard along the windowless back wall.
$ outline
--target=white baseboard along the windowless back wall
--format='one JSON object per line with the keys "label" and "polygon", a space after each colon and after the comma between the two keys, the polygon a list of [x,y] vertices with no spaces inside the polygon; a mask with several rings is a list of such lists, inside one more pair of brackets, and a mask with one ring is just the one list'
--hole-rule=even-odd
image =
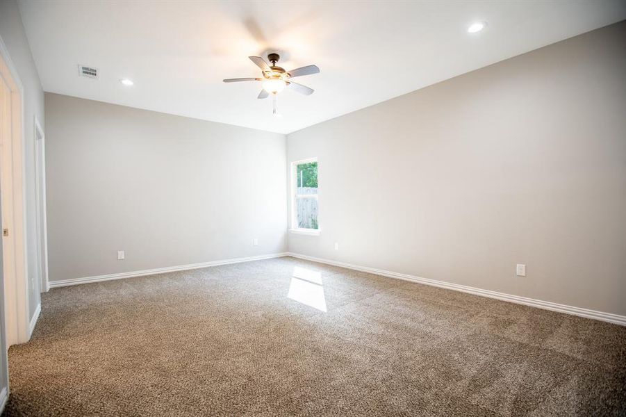
{"label": "white baseboard along the windowless back wall", "polygon": [[93,277],[62,279],[60,281],[49,281],[49,284],[50,284],[50,288],[58,288],[62,286],[90,284],[92,282],[111,281],[113,279],[144,277],[145,275],[158,275],[158,274],[165,274],[167,272],[194,270],[194,269],[208,268],[211,266],[218,266],[218,265],[229,265],[231,263],[261,261],[262,259],[280,258],[281,256],[287,256],[287,253],[280,252],[277,254],[248,256],[246,258],[223,259],[221,261],[190,263],[189,265],[167,266],[165,268],[155,268],[151,270],[120,272],[119,274],[94,275]]}

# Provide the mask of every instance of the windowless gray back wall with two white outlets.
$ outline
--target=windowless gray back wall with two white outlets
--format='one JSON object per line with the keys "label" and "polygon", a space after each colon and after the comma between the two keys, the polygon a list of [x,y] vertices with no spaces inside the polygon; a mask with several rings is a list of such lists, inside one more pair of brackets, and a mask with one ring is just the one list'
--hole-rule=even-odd
{"label": "windowless gray back wall with two white outlets", "polygon": [[284,135],[45,97],[51,281],[286,250]]}

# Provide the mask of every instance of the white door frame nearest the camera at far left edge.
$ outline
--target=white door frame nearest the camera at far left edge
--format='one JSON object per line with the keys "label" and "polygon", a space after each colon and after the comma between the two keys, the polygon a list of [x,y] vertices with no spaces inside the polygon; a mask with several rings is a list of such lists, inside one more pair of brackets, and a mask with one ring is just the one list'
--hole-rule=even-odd
{"label": "white door frame nearest the camera at far left edge", "polygon": [[[28,265],[26,263],[26,193],[24,156],[24,87],[0,37],[0,77],[10,89],[10,130],[0,133],[5,324],[7,347],[30,338]],[[3,235],[0,233],[0,235]]]}

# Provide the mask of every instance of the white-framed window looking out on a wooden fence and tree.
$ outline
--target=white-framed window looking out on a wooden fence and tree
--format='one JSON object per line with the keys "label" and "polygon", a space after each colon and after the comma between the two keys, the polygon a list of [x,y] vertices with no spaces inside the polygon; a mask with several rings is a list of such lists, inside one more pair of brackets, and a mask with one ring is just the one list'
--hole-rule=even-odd
{"label": "white-framed window looking out on a wooden fence and tree", "polygon": [[319,234],[318,159],[311,158],[291,164],[291,230]]}

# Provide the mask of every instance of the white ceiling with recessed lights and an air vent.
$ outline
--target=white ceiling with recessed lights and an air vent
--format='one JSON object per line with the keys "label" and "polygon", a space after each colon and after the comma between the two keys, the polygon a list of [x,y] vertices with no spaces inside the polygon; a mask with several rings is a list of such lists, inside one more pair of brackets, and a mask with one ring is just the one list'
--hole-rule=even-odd
{"label": "white ceiling with recessed lights and an air vent", "polygon": [[[20,1],[44,90],[290,133],[626,18],[623,0]],[[467,33],[472,22],[488,22]],[[247,56],[316,64],[284,91],[283,117]],[[76,65],[100,70],[95,81]],[[135,81],[124,87],[119,79]]]}

